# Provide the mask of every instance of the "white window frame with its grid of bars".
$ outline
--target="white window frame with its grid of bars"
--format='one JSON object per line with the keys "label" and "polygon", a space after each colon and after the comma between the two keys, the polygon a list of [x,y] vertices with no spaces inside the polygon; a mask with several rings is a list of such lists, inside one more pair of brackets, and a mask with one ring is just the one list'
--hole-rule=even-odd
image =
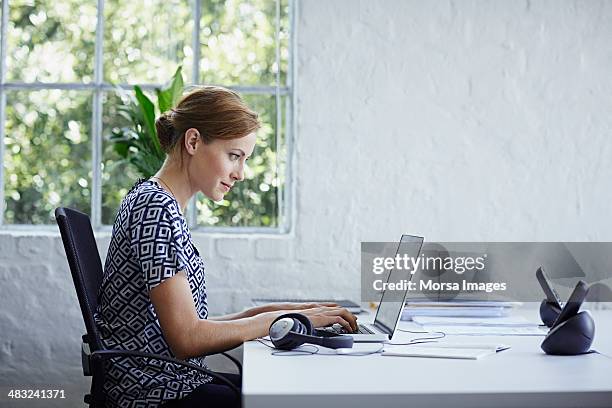
{"label": "white window frame with its grid of bars", "polygon": [[[299,0],[287,0],[288,4],[288,65],[286,83],[280,83],[280,69],[276,72],[276,83],[273,86],[242,86],[234,85],[228,86],[224,84],[218,84],[225,86],[229,89],[235,90],[243,95],[268,95],[274,96],[276,99],[276,151],[281,151],[281,140],[284,140],[286,156],[284,159],[285,166],[285,180],[283,183],[279,183],[277,189],[277,200],[278,200],[278,223],[276,227],[241,227],[241,226],[223,226],[223,227],[210,227],[205,225],[196,224],[197,209],[195,205],[196,197],[192,197],[190,200],[185,218],[193,233],[214,233],[214,234],[289,234],[293,230],[293,197],[295,196],[295,180],[294,180],[294,149],[293,141],[296,134],[296,124],[294,118],[296,117],[296,24],[297,21],[297,2]],[[274,0],[276,9],[275,18],[275,60],[277,66],[280,67],[280,0]],[[112,231],[111,225],[103,225],[102,216],[102,99],[103,94],[108,91],[113,91],[117,86],[124,90],[131,91],[134,85],[139,85],[143,90],[154,90],[156,87],[160,87],[161,84],[126,84],[121,83],[119,85],[111,85],[110,83],[104,82],[103,72],[103,49],[104,49],[104,3],[105,0],[97,0],[97,16],[96,16],[96,40],[95,40],[95,53],[94,53],[94,80],[91,83],[43,83],[43,82],[7,82],[6,81],[6,58],[7,58],[7,28],[8,28],[8,16],[9,16],[9,0],[2,0],[2,17],[0,23],[1,30],[1,43],[0,43],[0,232],[5,231],[17,231],[17,232],[44,232],[44,231],[56,231],[55,225],[51,224],[5,224],[4,223],[4,136],[6,126],[6,91],[9,90],[20,90],[20,91],[35,91],[42,89],[61,89],[61,90],[89,90],[93,92],[92,100],[92,135],[91,135],[91,153],[92,153],[92,189],[91,189],[91,203],[90,203],[90,217],[92,226],[96,232],[110,232]],[[193,18],[194,18],[194,29],[191,38],[193,48],[193,65],[192,65],[192,77],[186,82],[186,86],[200,83],[200,59],[201,59],[201,47],[200,47],[200,24],[202,15],[202,0],[190,0]],[[285,98],[285,106],[281,106],[281,98]],[[281,124],[283,120],[283,111],[285,112],[285,133],[280,134]],[[280,160],[276,160],[277,163]],[[276,169],[278,177],[279,169]]]}

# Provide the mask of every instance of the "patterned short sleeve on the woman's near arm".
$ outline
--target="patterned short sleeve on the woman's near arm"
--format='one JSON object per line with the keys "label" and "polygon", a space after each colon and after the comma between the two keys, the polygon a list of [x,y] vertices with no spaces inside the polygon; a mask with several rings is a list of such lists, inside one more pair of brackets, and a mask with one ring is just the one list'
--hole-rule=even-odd
{"label": "patterned short sleeve on the woman's near arm", "polygon": [[187,268],[188,241],[180,217],[164,205],[152,204],[135,213],[131,225],[131,250],[148,291]]}

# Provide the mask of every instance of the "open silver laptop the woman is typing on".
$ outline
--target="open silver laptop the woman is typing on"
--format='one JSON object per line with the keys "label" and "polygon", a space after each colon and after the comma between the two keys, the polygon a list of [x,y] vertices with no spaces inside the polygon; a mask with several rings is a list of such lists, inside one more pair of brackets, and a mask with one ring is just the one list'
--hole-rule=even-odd
{"label": "open silver laptop the woman is typing on", "polygon": [[[417,258],[423,247],[423,237],[414,235],[402,235],[402,238],[397,246],[395,255],[408,255],[411,258]],[[411,280],[412,274],[409,270],[393,269],[389,273],[387,282],[400,282],[402,280]],[[397,324],[400,321],[404,302],[408,294],[408,287],[404,291],[388,291],[385,290],[380,298],[376,317],[372,324],[359,323],[359,327],[353,333],[349,333],[340,325],[334,325],[319,330],[324,330],[337,334],[344,334],[353,337],[353,341],[357,343],[380,343],[391,340]]]}

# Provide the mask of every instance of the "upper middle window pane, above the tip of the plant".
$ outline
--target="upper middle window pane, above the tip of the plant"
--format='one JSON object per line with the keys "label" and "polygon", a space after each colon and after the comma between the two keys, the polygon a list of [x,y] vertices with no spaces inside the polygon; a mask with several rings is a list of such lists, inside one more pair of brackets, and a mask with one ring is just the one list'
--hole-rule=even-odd
{"label": "upper middle window pane, above the tip of the plant", "polygon": [[191,81],[191,2],[107,1],[104,26],[106,81],[162,84],[181,64],[185,80]]}

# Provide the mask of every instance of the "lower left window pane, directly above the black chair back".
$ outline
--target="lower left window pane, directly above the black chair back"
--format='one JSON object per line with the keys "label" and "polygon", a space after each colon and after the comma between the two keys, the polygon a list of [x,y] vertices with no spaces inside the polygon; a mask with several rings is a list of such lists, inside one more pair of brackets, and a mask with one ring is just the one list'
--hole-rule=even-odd
{"label": "lower left window pane, directly above the black chair back", "polygon": [[51,224],[56,207],[91,200],[91,92],[7,91],[7,224]]}

